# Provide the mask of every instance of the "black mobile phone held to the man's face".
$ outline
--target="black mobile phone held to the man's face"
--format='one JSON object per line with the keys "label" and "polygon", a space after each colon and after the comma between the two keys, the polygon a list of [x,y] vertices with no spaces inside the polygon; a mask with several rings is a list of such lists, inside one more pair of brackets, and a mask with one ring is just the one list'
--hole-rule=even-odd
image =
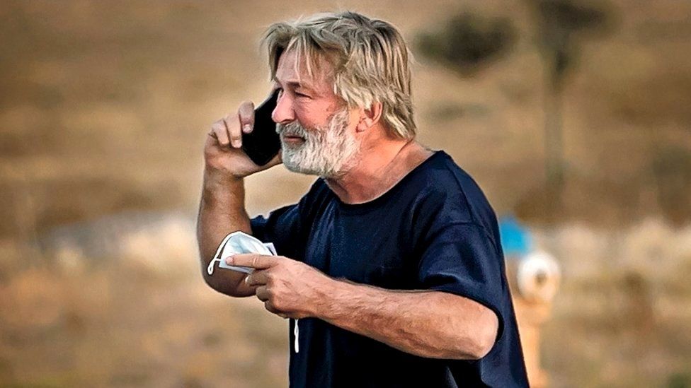
{"label": "black mobile phone held to the man's face", "polygon": [[278,89],[254,110],[254,127],[249,134],[242,134],[242,151],[256,165],[269,163],[280,150],[280,137],[271,113],[278,101]]}

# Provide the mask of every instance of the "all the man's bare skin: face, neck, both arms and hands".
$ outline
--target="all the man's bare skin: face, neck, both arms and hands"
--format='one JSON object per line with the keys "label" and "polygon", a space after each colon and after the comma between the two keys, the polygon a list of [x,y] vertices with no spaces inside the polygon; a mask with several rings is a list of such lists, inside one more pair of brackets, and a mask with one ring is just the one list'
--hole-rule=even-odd
{"label": "all the man's bare skin: face, neck, both arms and hands", "polygon": [[[297,120],[314,130],[343,107],[333,94],[329,65],[312,80],[299,77],[291,52],[282,55],[276,73],[282,88],[273,120]],[[302,80],[302,83],[300,81]],[[327,178],[333,192],[347,204],[371,201],[387,192],[431,151],[416,141],[389,135],[380,122],[382,106],[349,110],[348,130],[362,144],[359,162],[345,175]],[[251,233],[244,208],[244,177],[273,165],[254,165],[241,147],[241,131],[251,131],[253,106],[246,102],[237,114],[213,124],[205,144],[205,180],[198,220],[202,269],[206,269],[222,238],[235,230]],[[299,143],[300,139],[290,139]],[[498,319],[484,305],[436,291],[385,290],[331,278],[312,266],[287,257],[239,254],[229,264],[251,266],[250,276],[215,271],[205,281],[221,293],[256,297],[281,317],[324,319],[338,327],[387,343],[401,351],[429,358],[478,359],[491,350]]]}

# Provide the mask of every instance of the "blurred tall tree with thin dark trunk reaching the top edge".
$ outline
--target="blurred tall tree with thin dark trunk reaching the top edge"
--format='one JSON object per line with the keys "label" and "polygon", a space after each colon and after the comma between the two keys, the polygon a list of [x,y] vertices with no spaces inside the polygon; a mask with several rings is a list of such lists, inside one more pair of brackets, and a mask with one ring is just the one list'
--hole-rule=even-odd
{"label": "blurred tall tree with thin dark trunk reaching the top edge", "polygon": [[585,37],[610,31],[610,7],[602,1],[526,0],[537,24],[544,62],[544,146],[547,189],[557,203],[564,187],[564,140],[561,98],[566,77],[576,69]]}

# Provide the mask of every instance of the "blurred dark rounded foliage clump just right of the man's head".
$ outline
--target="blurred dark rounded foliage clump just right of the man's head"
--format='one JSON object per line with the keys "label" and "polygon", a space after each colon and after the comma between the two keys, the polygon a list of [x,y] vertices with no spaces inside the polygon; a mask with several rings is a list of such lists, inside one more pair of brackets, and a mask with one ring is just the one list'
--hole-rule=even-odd
{"label": "blurred dark rounded foliage clump just right of the man's head", "polygon": [[473,76],[506,54],[516,40],[508,18],[464,12],[453,16],[434,33],[421,33],[416,47],[423,56],[438,61],[461,76]]}

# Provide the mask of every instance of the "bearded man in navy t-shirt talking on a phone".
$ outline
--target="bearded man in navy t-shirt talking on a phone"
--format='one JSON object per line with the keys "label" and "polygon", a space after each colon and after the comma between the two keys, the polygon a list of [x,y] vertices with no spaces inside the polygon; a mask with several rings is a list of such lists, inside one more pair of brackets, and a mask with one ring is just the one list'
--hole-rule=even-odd
{"label": "bearded man in navy t-shirt talking on a phone", "polygon": [[[525,387],[496,216],[469,175],[414,140],[409,52],[357,13],[272,25],[282,150],[241,151],[253,106],[213,124],[198,220],[202,266],[235,230],[279,255],[252,274],[204,271],[290,319],[291,387]],[[244,177],[283,163],[319,175],[298,204],[250,219]],[[279,189],[278,187],[275,189]]]}

